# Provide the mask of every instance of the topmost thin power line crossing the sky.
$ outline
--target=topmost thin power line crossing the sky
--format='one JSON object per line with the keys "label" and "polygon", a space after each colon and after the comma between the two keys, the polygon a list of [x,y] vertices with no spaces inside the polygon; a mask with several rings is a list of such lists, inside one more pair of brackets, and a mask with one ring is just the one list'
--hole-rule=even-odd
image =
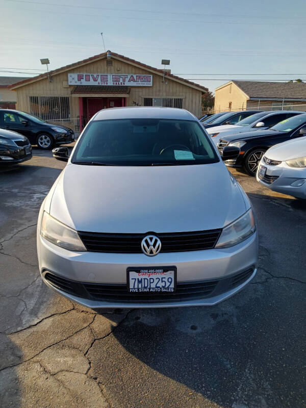
{"label": "topmost thin power line crossing the sky", "polygon": [[73,7],[73,8],[84,8],[84,9],[100,9],[100,10],[110,10],[110,11],[124,11],[124,12],[137,12],[137,13],[152,13],[152,14],[176,14],[176,15],[190,15],[190,16],[213,16],[213,17],[236,17],[236,18],[272,18],[274,19],[301,19],[304,20],[304,17],[288,17],[288,16],[254,16],[254,15],[237,15],[237,14],[211,14],[211,13],[185,13],[184,12],[174,12],[174,11],[156,11],[156,10],[139,10],[139,9],[118,9],[118,8],[108,8],[108,7],[99,7],[99,6],[80,6],[75,4],[61,4],[61,3],[41,3],[41,2],[33,2],[30,0],[5,0],[7,2],[14,2],[14,3],[31,3],[31,4],[38,4],[41,6],[60,6],[60,7]]}

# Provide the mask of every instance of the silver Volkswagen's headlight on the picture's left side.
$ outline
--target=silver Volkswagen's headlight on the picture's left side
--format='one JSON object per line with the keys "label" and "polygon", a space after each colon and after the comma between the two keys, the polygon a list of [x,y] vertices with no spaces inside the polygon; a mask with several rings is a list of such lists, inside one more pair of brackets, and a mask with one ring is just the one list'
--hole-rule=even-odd
{"label": "silver Volkswagen's headlight on the picture's left side", "polygon": [[55,245],[70,251],[86,251],[77,231],[44,212],[41,220],[40,235]]}

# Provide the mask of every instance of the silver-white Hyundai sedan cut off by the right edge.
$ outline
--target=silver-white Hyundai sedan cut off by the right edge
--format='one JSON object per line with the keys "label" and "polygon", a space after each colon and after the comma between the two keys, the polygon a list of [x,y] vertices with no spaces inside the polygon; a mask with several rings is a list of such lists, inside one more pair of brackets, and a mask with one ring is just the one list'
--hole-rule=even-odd
{"label": "silver-white Hyundai sedan cut off by the right edge", "polygon": [[[306,135],[306,127],[300,129]],[[268,149],[261,159],[257,181],[278,193],[306,199],[306,137]]]}

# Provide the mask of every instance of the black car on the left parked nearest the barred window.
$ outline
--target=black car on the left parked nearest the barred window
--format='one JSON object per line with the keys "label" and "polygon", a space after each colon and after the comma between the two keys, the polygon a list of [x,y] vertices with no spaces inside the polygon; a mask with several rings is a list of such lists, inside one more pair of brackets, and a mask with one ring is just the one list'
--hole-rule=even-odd
{"label": "black car on the left parked nearest the barred window", "polygon": [[0,128],[20,133],[41,149],[51,149],[74,140],[74,133],[69,127],[47,123],[36,116],[12,109],[0,109]]}

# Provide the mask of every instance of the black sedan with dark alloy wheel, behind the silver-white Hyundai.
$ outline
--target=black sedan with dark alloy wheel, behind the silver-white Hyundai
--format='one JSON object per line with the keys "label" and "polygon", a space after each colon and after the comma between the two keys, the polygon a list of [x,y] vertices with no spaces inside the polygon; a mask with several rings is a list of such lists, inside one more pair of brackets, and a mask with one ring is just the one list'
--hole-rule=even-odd
{"label": "black sedan with dark alloy wheel, behind the silver-white Hyundai", "polygon": [[219,140],[217,147],[221,156],[225,146],[239,147],[238,158],[224,163],[231,167],[242,167],[248,174],[254,176],[261,158],[269,147],[305,135],[306,113],[291,116],[270,129],[224,136]]}

